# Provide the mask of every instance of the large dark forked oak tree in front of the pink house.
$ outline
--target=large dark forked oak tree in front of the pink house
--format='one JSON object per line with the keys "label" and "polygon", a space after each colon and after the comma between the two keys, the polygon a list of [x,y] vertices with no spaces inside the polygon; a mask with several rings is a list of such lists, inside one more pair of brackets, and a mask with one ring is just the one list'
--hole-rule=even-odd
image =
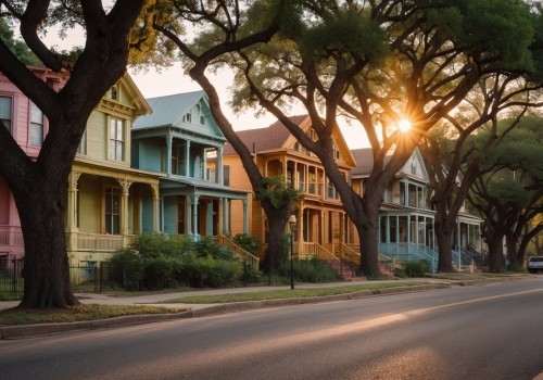
{"label": "large dark forked oak tree in front of the pink house", "polygon": [[[77,303],[70,290],[64,236],[67,178],[87,118],[126,71],[128,36],[143,3],[117,0],[106,11],[100,0],[0,1],[2,16],[20,25],[25,43],[43,65],[70,74],[64,87],[55,92],[0,41],[0,71],[49,121],[49,132],[36,161],[23,152],[7,128],[0,128],[0,174],[13,192],[25,242],[21,307]],[[40,39],[40,31],[54,15],[62,15],[68,26],[79,23],[86,33],[83,50],[67,66]],[[71,24],[71,20],[76,22]]]}

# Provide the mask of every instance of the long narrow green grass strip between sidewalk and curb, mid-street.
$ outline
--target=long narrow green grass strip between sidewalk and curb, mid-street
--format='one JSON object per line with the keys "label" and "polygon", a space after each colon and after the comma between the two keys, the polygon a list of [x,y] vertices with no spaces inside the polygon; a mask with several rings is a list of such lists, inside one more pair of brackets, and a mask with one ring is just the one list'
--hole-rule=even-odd
{"label": "long narrow green grass strip between sidewalk and curb, mid-street", "polygon": [[298,299],[298,297],[312,297],[312,296],[355,293],[363,290],[374,290],[383,288],[414,287],[414,286],[429,284],[429,283],[432,282],[428,281],[383,282],[383,283],[364,283],[364,284],[331,287],[331,288],[299,288],[299,289],[267,290],[267,291],[245,292],[245,293],[191,295],[191,296],[182,296],[182,297],[166,300],[163,301],[162,303],[215,304],[215,303],[229,303],[229,302],[243,302],[243,301]]}

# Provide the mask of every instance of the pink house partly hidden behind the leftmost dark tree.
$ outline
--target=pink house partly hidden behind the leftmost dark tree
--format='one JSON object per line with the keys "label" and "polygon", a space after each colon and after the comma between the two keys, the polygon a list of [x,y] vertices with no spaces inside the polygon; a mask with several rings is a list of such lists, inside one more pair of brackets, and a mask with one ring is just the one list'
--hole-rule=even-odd
{"label": "pink house partly hidden behind the leftmost dark tree", "polygon": [[[66,76],[46,67],[33,67],[34,73],[54,89],[61,88]],[[30,157],[39,153],[48,132],[48,122],[41,111],[0,73],[0,119],[20,147]],[[0,174],[0,268],[24,255],[23,233],[15,201]]]}

